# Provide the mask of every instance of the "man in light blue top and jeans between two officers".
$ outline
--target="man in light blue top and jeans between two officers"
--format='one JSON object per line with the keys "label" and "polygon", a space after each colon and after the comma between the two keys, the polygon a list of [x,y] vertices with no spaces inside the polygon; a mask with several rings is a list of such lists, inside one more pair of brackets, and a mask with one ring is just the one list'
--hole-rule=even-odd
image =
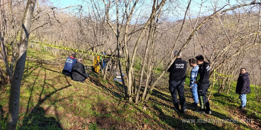
{"label": "man in light blue top and jeans between two officers", "polygon": [[189,59],[190,66],[193,67],[190,72],[190,90],[192,93],[192,97],[194,103],[190,104],[190,106],[197,107],[198,106],[198,85],[195,83],[198,75],[198,65],[196,64],[196,60],[194,58]]}

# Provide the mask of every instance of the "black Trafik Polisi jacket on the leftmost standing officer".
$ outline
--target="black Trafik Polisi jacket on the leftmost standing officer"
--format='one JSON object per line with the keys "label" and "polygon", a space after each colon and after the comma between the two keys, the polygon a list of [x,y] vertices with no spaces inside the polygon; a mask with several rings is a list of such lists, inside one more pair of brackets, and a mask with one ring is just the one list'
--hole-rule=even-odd
{"label": "black Trafik Polisi jacket on the leftmost standing officer", "polygon": [[186,79],[187,62],[181,58],[177,58],[168,69],[170,81],[185,81]]}

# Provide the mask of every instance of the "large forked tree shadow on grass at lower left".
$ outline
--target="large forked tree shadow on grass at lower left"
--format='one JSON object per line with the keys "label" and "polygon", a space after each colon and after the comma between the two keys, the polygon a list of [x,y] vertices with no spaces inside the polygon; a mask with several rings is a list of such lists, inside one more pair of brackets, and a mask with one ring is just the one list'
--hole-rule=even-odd
{"label": "large forked tree shadow on grass at lower left", "polygon": [[68,79],[65,76],[65,79],[68,83],[67,86],[61,87],[59,89],[55,89],[51,93],[46,94],[42,97],[42,95],[44,93],[45,86],[49,85],[49,86],[52,87],[51,84],[46,82],[46,70],[45,70],[44,71],[44,84],[42,85],[42,90],[39,94],[38,103],[34,106],[34,108],[31,111],[29,111],[29,104],[30,104],[30,101],[31,101],[31,98],[32,98],[32,95],[33,95],[32,93],[34,91],[35,82],[39,78],[39,72],[37,74],[36,79],[34,80],[34,83],[31,86],[32,87],[31,88],[31,94],[30,94],[30,97],[28,99],[28,105],[27,105],[27,108],[26,108],[26,113],[24,114],[24,117],[22,116],[23,121],[18,123],[18,125],[19,125],[18,129],[55,129],[55,130],[62,130],[62,127],[61,127],[61,124],[60,124],[60,119],[58,118],[58,114],[57,114],[57,111],[56,111],[56,107],[55,107],[55,117],[47,117],[47,116],[45,116],[46,112],[50,109],[50,107],[52,105],[49,106],[49,108],[47,108],[46,110],[44,110],[44,108],[41,107],[41,105],[47,99],[49,99],[53,94],[55,94],[58,91],[61,91],[63,89],[70,87],[71,84],[69,84]]}

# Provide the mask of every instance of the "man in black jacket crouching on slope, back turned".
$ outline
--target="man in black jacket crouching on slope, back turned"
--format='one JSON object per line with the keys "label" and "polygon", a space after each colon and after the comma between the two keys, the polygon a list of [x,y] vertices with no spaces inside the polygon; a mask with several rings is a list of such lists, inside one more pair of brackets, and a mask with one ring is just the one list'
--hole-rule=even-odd
{"label": "man in black jacket crouching on slope, back turned", "polygon": [[72,66],[71,69],[71,79],[74,81],[84,82],[85,79],[89,77],[89,74],[86,73],[84,65],[82,64],[82,59],[79,58],[77,63]]}

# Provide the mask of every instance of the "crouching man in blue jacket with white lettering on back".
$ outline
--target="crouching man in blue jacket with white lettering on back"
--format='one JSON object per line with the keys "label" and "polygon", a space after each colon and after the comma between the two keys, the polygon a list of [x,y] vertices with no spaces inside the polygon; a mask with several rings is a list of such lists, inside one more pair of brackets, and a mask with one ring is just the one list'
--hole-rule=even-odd
{"label": "crouching man in blue jacket with white lettering on back", "polygon": [[75,57],[76,57],[75,54],[71,54],[71,56],[66,59],[66,62],[64,64],[63,71],[62,71],[62,73],[65,74],[66,76],[71,75],[71,68],[77,62]]}

